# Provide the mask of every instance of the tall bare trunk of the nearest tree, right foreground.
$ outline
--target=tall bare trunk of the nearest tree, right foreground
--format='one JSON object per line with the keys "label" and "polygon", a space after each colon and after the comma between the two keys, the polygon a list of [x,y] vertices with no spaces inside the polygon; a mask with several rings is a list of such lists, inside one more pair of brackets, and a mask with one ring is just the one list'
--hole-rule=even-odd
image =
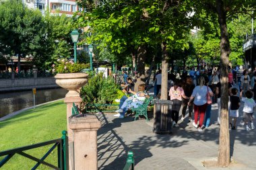
{"label": "tall bare trunk of the nearest tree, right foreground", "polygon": [[220,144],[218,153],[218,165],[227,167],[230,164],[230,138],[228,130],[228,56],[230,54],[230,43],[226,25],[226,11],[222,0],[216,0],[218,22],[220,24],[220,62],[221,62],[221,115],[220,115]]}

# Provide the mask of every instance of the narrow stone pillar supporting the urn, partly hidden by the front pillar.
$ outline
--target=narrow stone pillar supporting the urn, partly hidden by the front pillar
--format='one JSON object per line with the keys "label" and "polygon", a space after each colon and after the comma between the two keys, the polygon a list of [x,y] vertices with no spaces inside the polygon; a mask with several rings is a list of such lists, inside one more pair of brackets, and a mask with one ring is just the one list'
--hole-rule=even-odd
{"label": "narrow stone pillar supporting the urn, partly hidden by the front pillar", "polygon": [[67,104],[67,136],[69,136],[69,170],[73,170],[73,133],[72,130],[69,128],[69,117],[71,117],[72,114],[72,107],[73,103],[80,108],[82,99],[78,96],[70,96],[65,97],[64,102]]}

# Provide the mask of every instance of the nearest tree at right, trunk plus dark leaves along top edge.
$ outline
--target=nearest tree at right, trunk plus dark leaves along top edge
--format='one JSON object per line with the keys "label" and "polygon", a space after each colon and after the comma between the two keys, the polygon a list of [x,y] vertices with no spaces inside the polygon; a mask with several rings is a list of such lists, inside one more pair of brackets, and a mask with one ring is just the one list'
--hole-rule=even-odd
{"label": "nearest tree at right, trunk plus dark leaves along top edge", "polygon": [[218,165],[226,167],[230,164],[230,139],[228,130],[228,63],[230,55],[230,42],[228,38],[227,19],[236,13],[246,13],[249,7],[255,7],[254,1],[241,0],[212,0],[194,3],[195,15],[198,17],[204,11],[218,16],[220,29],[220,61],[221,61],[221,124],[220,124],[220,144],[218,154]]}

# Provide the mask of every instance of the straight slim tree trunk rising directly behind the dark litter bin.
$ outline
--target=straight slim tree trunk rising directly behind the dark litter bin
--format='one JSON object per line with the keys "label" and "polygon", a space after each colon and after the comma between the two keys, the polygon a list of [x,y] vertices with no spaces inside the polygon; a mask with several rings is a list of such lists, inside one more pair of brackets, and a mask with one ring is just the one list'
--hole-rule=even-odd
{"label": "straight slim tree trunk rising directly behind the dark litter bin", "polygon": [[168,99],[168,53],[166,51],[166,42],[162,42],[162,84],[161,99]]}

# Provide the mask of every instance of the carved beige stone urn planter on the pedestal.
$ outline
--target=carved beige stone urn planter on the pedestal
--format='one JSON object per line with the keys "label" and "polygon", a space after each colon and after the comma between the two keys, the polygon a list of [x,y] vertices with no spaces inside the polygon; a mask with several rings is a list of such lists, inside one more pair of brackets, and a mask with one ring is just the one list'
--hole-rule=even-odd
{"label": "carved beige stone urn planter on the pedestal", "polygon": [[58,73],[55,75],[56,83],[69,92],[66,97],[79,97],[78,89],[88,81],[87,73]]}

